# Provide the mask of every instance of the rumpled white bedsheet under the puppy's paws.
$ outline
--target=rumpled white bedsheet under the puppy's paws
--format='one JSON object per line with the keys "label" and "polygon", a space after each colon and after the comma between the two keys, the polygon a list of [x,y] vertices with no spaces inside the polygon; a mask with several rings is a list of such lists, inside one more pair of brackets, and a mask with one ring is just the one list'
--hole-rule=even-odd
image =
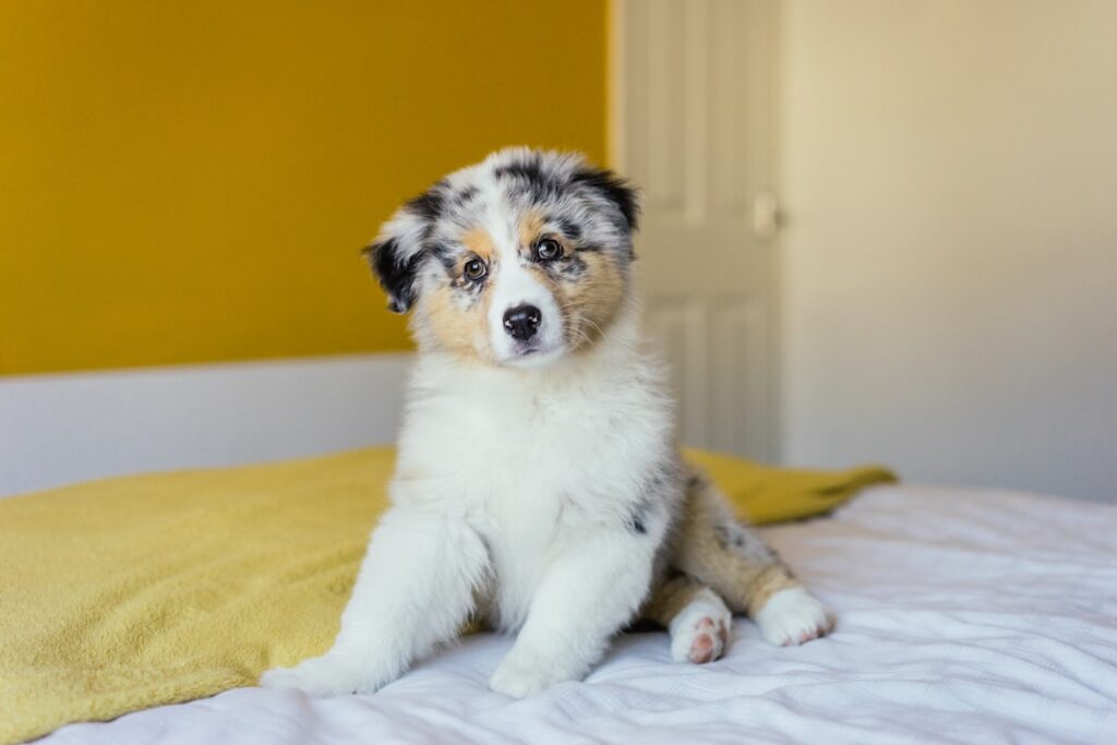
{"label": "rumpled white bedsheet under the puppy's paws", "polygon": [[837,610],[828,639],[738,620],[696,667],[629,634],[514,701],[485,685],[510,641],[479,636],[374,696],[232,690],[47,743],[1117,743],[1117,507],[886,487],[766,534]]}

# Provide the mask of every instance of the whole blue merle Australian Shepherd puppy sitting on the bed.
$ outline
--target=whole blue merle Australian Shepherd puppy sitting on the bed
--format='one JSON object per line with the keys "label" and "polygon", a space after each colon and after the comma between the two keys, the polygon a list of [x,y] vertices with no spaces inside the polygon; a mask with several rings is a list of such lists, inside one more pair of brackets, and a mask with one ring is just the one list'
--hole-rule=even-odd
{"label": "whole blue merle Australian Shepherd puppy sitting on the bed", "polygon": [[490,687],[579,680],[643,619],[708,662],[747,613],[774,644],[830,615],[685,464],[633,295],[633,190],[503,150],[407,202],[367,249],[419,347],[391,508],[333,648],[262,685],[374,691],[470,619],[515,634]]}

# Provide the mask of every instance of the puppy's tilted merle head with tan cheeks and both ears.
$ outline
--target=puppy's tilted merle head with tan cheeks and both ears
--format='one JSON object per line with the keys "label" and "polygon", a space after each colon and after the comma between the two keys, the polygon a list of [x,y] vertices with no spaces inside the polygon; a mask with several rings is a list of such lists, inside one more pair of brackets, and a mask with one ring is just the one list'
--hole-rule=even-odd
{"label": "puppy's tilted merle head with tan cheeks and both ears", "polygon": [[636,192],[576,154],[502,150],[401,207],[366,256],[423,348],[537,366],[628,299]]}

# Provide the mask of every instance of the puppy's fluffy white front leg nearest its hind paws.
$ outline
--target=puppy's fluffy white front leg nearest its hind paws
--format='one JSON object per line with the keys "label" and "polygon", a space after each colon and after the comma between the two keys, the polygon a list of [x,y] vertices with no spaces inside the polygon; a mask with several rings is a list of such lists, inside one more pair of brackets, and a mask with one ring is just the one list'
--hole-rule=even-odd
{"label": "puppy's fluffy white front leg nearest its hind paws", "polygon": [[630,531],[583,538],[544,574],[527,621],[489,687],[523,698],[580,680],[648,592],[655,542]]}

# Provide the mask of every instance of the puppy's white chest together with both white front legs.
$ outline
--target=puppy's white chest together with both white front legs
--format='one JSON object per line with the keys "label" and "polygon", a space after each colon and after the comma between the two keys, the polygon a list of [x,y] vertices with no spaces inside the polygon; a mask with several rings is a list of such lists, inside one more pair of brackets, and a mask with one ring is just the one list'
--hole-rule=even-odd
{"label": "puppy's white chest together with both white front legs", "polygon": [[[611,343],[542,370],[423,355],[393,507],[373,533],[333,649],[264,685],[372,691],[452,638],[488,595],[518,631],[494,690],[583,677],[647,595],[657,535],[623,528],[672,443],[634,309]],[[662,531],[666,526],[658,526]]]}

